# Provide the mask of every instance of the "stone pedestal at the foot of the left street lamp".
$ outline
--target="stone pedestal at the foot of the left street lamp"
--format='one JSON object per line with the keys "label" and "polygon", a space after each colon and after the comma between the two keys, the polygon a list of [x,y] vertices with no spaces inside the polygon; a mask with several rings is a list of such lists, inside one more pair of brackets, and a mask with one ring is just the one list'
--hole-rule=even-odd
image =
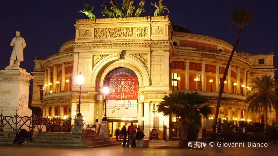
{"label": "stone pedestal at the foot of the left street lamp", "polygon": [[85,134],[85,129],[83,127],[84,120],[82,118],[75,118],[73,120],[72,140],[80,140],[80,142],[82,142],[83,134]]}

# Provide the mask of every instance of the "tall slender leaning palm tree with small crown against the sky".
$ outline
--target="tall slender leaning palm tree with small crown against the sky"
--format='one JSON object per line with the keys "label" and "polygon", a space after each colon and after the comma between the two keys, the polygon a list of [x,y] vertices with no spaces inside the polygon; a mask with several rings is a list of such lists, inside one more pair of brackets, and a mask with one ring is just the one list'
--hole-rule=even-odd
{"label": "tall slender leaning palm tree with small crown against the sky", "polygon": [[216,112],[215,112],[215,118],[214,118],[214,124],[213,124],[213,132],[216,132],[216,125],[217,125],[217,119],[218,119],[218,114],[219,114],[219,109],[220,109],[221,97],[222,97],[222,93],[223,93],[224,81],[226,80],[228,68],[229,68],[230,63],[232,61],[233,55],[236,51],[236,48],[239,44],[239,39],[240,39],[240,35],[242,33],[243,26],[245,26],[245,25],[255,26],[254,23],[249,21],[250,18],[253,16],[253,12],[251,12],[250,10],[247,10],[247,9],[240,10],[240,9],[238,9],[238,10],[233,10],[233,12],[229,13],[229,14],[230,14],[229,18],[231,18],[233,20],[230,23],[230,26],[231,27],[233,25],[238,26],[238,36],[237,36],[236,42],[234,44],[233,50],[231,52],[231,55],[229,57],[226,69],[225,69],[224,74],[223,74],[223,79],[222,79],[222,82],[221,82],[221,85],[220,85],[220,91],[219,91],[218,101],[217,101],[217,105],[216,105]]}

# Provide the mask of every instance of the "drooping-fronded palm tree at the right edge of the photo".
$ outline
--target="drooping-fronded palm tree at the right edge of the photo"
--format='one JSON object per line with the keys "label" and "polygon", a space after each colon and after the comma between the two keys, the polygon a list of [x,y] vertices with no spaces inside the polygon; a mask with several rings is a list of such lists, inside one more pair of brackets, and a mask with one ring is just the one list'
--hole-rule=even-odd
{"label": "drooping-fronded palm tree at the right edge of the photo", "polygon": [[278,110],[278,96],[275,88],[278,88],[277,81],[271,75],[256,77],[250,82],[251,91],[246,95],[248,110],[253,112],[264,111],[264,135],[266,133],[267,110]]}

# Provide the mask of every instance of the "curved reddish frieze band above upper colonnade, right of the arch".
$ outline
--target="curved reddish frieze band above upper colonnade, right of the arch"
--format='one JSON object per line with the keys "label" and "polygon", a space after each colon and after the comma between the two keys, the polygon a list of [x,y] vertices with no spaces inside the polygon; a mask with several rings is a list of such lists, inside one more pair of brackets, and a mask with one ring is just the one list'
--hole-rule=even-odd
{"label": "curved reddish frieze band above upper colonnade, right of the arch", "polygon": [[[175,53],[176,54],[177,53],[205,54],[205,55],[218,56],[218,57],[227,58],[227,59],[229,59],[229,57],[230,57],[230,55],[225,55],[225,54],[211,53],[211,52],[205,52],[205,51],[182,50],[182,49],[176,50]],[[253,65],[249,61],[245,60],[243,57],[234,55],[233,59],[236,61],[242,62],[244,64],[247,64],[251,69],[253,68]]]}

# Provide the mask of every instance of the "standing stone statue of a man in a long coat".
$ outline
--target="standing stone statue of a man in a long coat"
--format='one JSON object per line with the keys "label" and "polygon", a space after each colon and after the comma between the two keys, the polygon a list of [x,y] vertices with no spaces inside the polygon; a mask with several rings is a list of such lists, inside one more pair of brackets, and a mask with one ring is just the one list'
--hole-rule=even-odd
{"label": "standing stone statue of a man in a long coat", "polygon": [[13,38],[11,44],[13,46],[13,52],[10,58],[10,65],[12,67],[15,64],[16,67],[19,67],[20,62],[23,61],[23,49],[26,47],[26,43],[23,37],[20,36],[20,32],[16,31],[16,37]]}

